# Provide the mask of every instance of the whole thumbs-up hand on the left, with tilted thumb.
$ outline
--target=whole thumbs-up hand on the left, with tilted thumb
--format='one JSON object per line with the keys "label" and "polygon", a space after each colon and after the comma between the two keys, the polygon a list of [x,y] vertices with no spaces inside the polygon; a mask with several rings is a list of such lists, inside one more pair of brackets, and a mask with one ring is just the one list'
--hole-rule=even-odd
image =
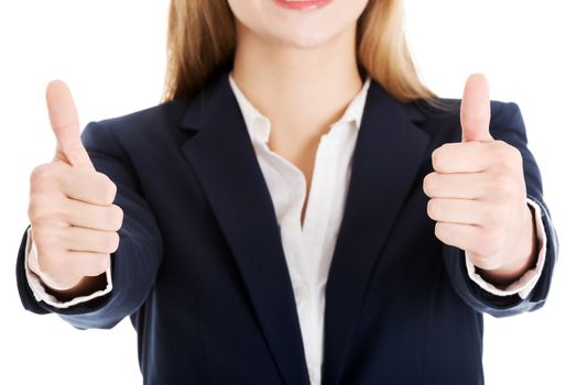
{"label": "whole thumbs-up hand on the left, with tilted thumb", "polygon": [[68,87],[52,81],[46,103],[57,147],[52,162],[31,173],[28,216],[39,275],[50,288],[68,292],[108,270],[123,213],[112,205],[115,183],[95,169],[84,148]]}

